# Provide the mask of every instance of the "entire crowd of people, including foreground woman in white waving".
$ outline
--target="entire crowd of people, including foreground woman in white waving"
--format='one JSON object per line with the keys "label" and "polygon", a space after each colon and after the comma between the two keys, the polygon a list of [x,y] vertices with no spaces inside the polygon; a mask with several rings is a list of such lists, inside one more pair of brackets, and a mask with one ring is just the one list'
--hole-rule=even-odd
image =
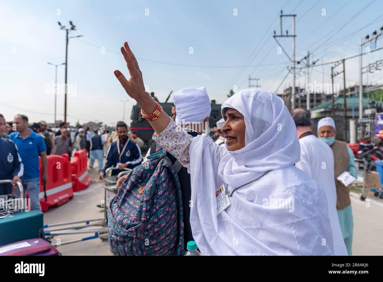
{"label": "entire crowd of people, including foreground woman in white waving", "polygon": [[[291,112],[283,100],[264,89],[245,89],[221,107],[223,118],[209,136],[210,98],[205,87],[173,95],[171,117],[154,93],[145,91],[142,73],[127,43],[121,52],[127,80],[115,75],[137,101],[155,133],[144,159],[144,142],[123,121],[109,132],[62,123],[54,133],[40,121],[16,115],[11,123],[0,115],[0,178],[22,181],[39,208],[39,156],[47,181],[47,155],[86,149],[88,166],[98,162],[100,179],[113,167],[117,175],[133,169],[161,148],[173,164],[180,163],[185,248],[195,241],[203,255],[351,255],[353,218],[349,187],[337,179],[356,177],[354,153],[335,139],[336,125],[322,118],[313,133],[311,112]],[[149,113],[149,114],[146,114]],[[374,146],[382,144],[380,140]],[[364,145],[369,144],[365,140]],[[367,146],[368,148],[374,146]],[[362,148],[363,149],[363,148]],[[106,162],[103,164],[103,158]],[[121,177],[118,187],[128,175]],[[0,186],[2,195],[12,187]],[[220,193],[221,192],[221,193]],[[224,192],[224,193],[223,193]],[[24,195],[25,196],[25,195]],[[218,203],[224,199],[224,206]],[[276,205],[275,205],[276,203]]]}

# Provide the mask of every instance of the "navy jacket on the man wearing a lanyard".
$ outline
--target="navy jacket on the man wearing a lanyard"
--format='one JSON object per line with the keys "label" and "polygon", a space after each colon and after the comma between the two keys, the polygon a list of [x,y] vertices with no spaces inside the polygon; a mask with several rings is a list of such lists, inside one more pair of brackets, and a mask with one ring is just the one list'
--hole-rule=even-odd
{"label": "navy jacket on the man wearing a lanyard", "polygon": [[[104,169],[102,172],[105,173],[106,169],[108,167],[112,166],[117,166],[119,162],[122,164],[128,164],[129,169],[133,169],[134,167],[138,166],[142,162],[142,155],[141,155],[141,150],[137,146],[136,143],[133,141],[130,141],[129,138],[126,138],[124,140],[123,144],[120,145],[120,152],[124,149],[124,146],[126,144],[126,147],[123,152],[121,152],[121,159],[118,154],[118,149],[117,149],[117,142],[113,142],[109,149],[108,152],[106,153],[106,164],[104,166]],[[119,174],[121,171],[119,170],[113,170],[112,175]]]}

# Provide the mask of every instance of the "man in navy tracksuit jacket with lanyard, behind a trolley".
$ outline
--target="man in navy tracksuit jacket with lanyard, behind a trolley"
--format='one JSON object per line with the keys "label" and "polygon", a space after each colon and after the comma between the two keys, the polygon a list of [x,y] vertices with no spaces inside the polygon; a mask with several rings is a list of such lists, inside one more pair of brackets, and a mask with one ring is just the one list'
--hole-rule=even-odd
{"label": "man in navy tracksuit jacket with lanyard, behind a trolley", "polygon": [[105,177],[105,171],[108,167],[118,166],[118,169],[112,171],[112,175],[117,175],[121,171],[124,171],[124,167],[133,169],[142,162],[140,148],[128,138],[128,127],[126,123],[119,121],[116,125],[116,131],[119,138],[110,145],[106,153],[106,164],[100,174],[100,179]]}

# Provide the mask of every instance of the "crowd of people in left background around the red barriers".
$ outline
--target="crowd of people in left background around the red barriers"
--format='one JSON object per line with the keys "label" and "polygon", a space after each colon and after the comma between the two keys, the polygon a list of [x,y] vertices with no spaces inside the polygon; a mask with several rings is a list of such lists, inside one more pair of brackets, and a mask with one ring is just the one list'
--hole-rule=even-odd
{"label": "crowd of people in left background around the red barriers", "polygon": [[[39,192],[40,192],[40,170],[39,157],[43,166],[42,178],[44,182],[48,181],[47,174],[47,156],[68,154],[69,159],[75,151],[86,149],[90,159],[88,166],[93,169],[95,160],[98,161],[98,171],[100,175],[108,167],[113,165],[122,167],[128,166],[129,162],[137,163],[142,161],[140,147],[144,142],[137,137],[136,132],[127,131],[127,126],[123,122],[118,122],[118,129],[123,126],[122,130],[108,131],[105,130],[99,134],[98,129],[90,130],[89,127],[73,129],[68,128],[67,123],[61,123],[59,130],[47,128],[46,121],[39,121],[29,125],[29,119],[25,115],[16,115],[13,121],[7,122],[5,117],[0,114],[0,179],[11,179],[11,184],[0,184],[0,195],[9,195],[16,193],[13,190],[17,187],[16,182],[21,182],[24,188],[24,195],[28,191],[31,199],[31,210],[41,210]],[[113,163],[113,154],[115,153],[115,144],[118,142],[118,136],[123,136],[122,145],[125,145],[124,156],[121,159],[126,160],[128,164]],[[116,137],[117,136],[117,139]],[[126,139],[126,136],[129,138]],[[125,139],[124,139],[125,138]],[[132,141],[130,141],[132,140]],[[135,145],[132,153],[126,149],[126,144],[131,148]],[[137,144],[137,145],[136,145]],[[109,154],[112,148],[111,154]],[[103,165],[103,157],[106,156],[105,167]]]}

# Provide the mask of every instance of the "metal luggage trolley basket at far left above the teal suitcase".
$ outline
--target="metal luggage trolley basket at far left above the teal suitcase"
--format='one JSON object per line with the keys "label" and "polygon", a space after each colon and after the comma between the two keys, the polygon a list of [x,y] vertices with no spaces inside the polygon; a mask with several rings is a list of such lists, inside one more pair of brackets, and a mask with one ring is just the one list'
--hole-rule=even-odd
{"label": "metal luggage trolley basket at far left above the teal suitcase", "polygon": [[[0,184],[11,183],[13,180],[0,180]],[[24,211],[24,189],[21,182],[16,182],[20,196],[12,194],[0,195],[0,219],[5,217],[12,217],[16,212]],[[13,191],[13,188],[12,188]],[[13,207],[8,209],[7,207]]]}

